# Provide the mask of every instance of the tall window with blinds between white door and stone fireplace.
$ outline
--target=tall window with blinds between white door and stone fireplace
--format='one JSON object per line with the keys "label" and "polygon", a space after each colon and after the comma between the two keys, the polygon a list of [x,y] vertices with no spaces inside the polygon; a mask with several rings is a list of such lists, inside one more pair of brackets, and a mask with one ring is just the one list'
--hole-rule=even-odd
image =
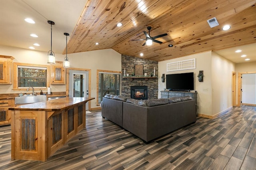
{"label": "tall window with blinds between white door and stone fireplace", "polygon": [[106,94],[120,95],[120,78],[117,73],[98,73],[98,104]]}

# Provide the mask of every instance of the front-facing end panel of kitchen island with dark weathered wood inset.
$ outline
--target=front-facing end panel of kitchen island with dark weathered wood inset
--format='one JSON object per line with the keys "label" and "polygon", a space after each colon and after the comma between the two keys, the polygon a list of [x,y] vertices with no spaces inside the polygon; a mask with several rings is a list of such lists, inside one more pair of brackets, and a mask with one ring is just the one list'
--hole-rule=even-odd
{"label": "front-facing end panel of kitchen island with dark weathered wood inset", "polygon": [[47,159],[45,120],[45,111],[12,111],[12,159]]}

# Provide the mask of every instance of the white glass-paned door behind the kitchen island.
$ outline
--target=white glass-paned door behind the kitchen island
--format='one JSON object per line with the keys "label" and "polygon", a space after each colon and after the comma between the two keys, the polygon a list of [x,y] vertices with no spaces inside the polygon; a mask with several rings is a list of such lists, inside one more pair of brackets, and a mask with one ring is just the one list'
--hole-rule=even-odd
{"label": "white glass-paned door behind the kitchen island", "polygon": [[[69,70],[69,96],[89,97],[89,72]],[[88,102],[86,103],[88,110]]]}

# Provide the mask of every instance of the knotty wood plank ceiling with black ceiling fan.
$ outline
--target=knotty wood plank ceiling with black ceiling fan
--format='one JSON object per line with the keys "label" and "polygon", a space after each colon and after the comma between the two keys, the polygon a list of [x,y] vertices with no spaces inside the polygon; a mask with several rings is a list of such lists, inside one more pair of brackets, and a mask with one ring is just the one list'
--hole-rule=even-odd
{"label": "knotty wood plank ceiling with black ceiling fan", "polygon": [[[88,0],[68,42],[68,53],[112,48],[163,61],[256,43],[255,4],[256,0]],[[219,25],[210,28],[207,20],[214,17]],[[123,25],[116,27],[119,22]],[[223,31],[226,24],[231,29]],[[142,46],[145,41],[131,41],[145,39],[147,26],[152,27],[151,36],[168,34],[157,39],[162,44]]]}

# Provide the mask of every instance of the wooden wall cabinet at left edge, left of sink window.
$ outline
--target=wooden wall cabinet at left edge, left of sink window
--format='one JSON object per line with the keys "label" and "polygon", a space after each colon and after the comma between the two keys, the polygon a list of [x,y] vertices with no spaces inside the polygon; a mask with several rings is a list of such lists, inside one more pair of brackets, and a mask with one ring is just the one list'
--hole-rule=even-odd
{"label": "wooden wall cabinet at left edge, left of sink window", "polygon": [[12,60],[14,57],[0,55],[0,84],[12,84]]}

